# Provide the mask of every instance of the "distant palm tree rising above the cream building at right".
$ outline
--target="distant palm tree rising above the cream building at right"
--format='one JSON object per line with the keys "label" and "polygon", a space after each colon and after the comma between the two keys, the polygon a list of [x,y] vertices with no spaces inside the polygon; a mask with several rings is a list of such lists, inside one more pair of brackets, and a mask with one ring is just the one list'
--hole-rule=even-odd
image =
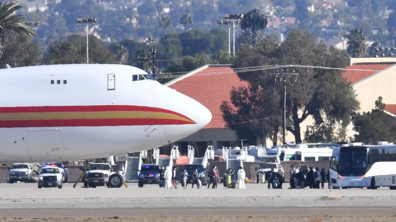
{"label": "distant palm tree rising above the cream building at right", "polygon": [[366,50],[367,50],[367,36],[364,35],[364,29],[360,30],[358,28],[354,28],[350,30],[348,35],[345,36],[348,38],[348,42],[346,45],[348,45],[348,48],[346,51],[352,55],[352,57],[362,57],[366,55]]}

